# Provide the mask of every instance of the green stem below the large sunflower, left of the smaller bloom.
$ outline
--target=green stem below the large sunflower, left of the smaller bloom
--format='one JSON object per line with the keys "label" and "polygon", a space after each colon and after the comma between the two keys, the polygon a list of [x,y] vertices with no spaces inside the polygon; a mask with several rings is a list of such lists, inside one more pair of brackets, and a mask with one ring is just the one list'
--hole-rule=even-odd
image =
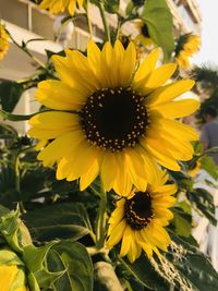
{"label": "green stem below the large sunflower, left of the smaller bloom", "polygon": [[98,217],[97,217],[97,229],[96,229],[97,248],[102,248],[105,246],[106,219],[107,219],[107,194],[104,190],[101,190],[100,205],[99,205]]}

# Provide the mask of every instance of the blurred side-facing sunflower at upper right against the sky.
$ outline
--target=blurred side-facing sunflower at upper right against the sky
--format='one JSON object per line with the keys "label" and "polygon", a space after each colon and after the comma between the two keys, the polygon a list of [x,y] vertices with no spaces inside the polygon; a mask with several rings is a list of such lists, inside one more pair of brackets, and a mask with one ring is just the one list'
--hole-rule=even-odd
{"label": "blurred side-facing sunflower at upper right against the sky", "polygon": [[189,59],[197,52],[201,46],[201,39],[197,35],[182,35],[175,48],[175,60],[180,68],[190,68]]}

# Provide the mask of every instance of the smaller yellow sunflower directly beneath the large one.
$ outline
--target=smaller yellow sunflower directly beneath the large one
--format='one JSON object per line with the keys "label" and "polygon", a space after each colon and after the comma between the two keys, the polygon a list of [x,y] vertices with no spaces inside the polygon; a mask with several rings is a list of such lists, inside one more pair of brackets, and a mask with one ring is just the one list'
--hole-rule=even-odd
{"label": "smaller yellow sunflower directly beneath the large one", "polygon": [[161,171],[156,186],[148,184],[145,192],[135,192],[117,202],[117,208],[109,219],[108,242],[111,248],[121,242],[120,256],[128,255],[133,263],[142,250],[150,258],[153,252],[167,251],[170,237],[165,227],[173,215],[168,209],[174,205],[175,184],[166,184],[168,175]]}

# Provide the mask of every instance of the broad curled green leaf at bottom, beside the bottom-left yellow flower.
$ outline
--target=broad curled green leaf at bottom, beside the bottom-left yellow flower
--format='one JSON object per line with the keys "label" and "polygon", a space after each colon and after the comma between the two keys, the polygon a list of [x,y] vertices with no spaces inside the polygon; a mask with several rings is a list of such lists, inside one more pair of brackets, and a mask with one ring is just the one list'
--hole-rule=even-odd
{"label": "broad curled green leaf at bottom, beside the bottom-left yellow flower", "polygon": [[53,290],[93,290],[93,264],[85,246],[81,243],[72,241],[57,243],[49,252],[47,264],[51,271],[65,270],[53,283]]}

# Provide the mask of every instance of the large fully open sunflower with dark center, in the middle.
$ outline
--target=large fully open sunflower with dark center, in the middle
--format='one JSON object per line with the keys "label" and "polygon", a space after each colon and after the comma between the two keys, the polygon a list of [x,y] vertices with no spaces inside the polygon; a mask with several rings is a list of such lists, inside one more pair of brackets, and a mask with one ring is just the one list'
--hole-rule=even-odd
{"label": "large fully open sunflower with dark center, in the middle", "polygon": [[[125,195],[134,184],[155,183],[158,161],[180,170],[190,160],[193,129],[174,118],[189,116],[198,101],[174,100],[192,88],[191,80],[165,85],[177,65],[155,69],[154,50],[136,70],[134,44],[107,43],[102,51],[89,41],[87,58],[76,50],[53,57],[60,81],[40,82],[36,99],[52,111],[33,117],[29,135],[43,141],[38,159],[58,163],[57,179],[80,178],[81,190],[98,174],[106,191]],[[48,145],[46,143],[48,142]]]}

